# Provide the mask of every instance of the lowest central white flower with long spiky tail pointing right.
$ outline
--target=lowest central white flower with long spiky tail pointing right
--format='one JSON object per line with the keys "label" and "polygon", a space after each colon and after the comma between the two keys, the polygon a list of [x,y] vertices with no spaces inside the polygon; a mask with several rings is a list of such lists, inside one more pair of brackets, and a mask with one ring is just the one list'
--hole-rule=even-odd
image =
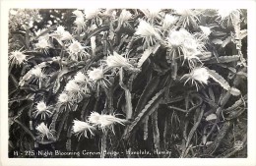
{"label": "lowest central white flower with long spiky tail pointing right", "polygon": [[97,112],[92,112],[88,120],[90,123],[94,124],[94,126],[100,128],[103,132],[105,132],[106,129],[111,129],[113,133],[113,125],[115,123],[124,126],[124,123],[127,121],[125,119],[116,118],[114,115],[100,115]]}

